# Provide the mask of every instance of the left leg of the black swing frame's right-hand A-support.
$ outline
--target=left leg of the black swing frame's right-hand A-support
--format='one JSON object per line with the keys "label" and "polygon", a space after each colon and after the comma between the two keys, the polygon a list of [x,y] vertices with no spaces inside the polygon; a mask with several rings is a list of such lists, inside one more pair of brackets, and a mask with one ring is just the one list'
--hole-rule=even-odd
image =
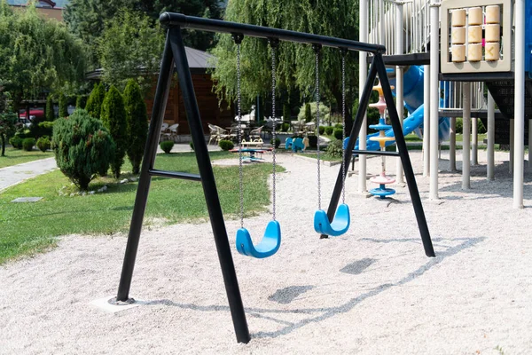
{"label": "left leg of the black swing frame's right-hand A-support", "polygon": [[[351,157],[353,156],[353,149],[355,148],[356,136],[358,136],[359,132],[362,129],[362,126],[365,124],[364,114],[366,110],[368,109],[368,104],[370,103],[370,97],[372,96],[373,83],[375,82],[375,78],[377,77],[377,65],[378,64],[375,62],[375,60],[373,60],[372,66],[370,67],[370,72],[367,75],[368,79],[366,80],[364,84],[364,89],[362,91],[362,95],[360,99],[360,105],[358,106],[358,112],[356,112],[355,123],[353,123],[353,127],[351,128],[351,133],[349,133],[348,146],[346,147],[346,154],[344,158],[345,164],[348,164],[348,162],[351,161]],[[359,149],[359,150],[362,150],[362,149]],[[364,154],[358,155],[359,158],[362,156],[364,156]],[[336,213],[336,208],[338,207],[338,201],[340,201],[342,184],[343,184],[343,171],[340,166],[338,177],[336,177],[336,184],[334,185],[334,189],[332,190],[331,201],[329,202],[329,207],[327,209],[327,217],[329,217],[329,222],[332,222],[332,219],[334,219],[334,214]],[[325,234],[321,234],[320,239],[325,239],[325,238],[328,238],[328,236]]]}

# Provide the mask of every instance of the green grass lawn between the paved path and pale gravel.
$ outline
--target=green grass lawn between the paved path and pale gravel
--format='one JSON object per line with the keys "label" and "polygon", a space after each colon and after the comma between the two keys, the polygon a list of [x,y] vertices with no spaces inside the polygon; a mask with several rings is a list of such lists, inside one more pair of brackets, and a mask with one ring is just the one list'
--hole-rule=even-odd
{"label": "green grass lawn between the paved path and pale gravel", "polygon": [[[211,159],[236,157],[226,152],[212,152]],[[198,172],[193,153],[160,154],[155,168]],[[225,217],[239,213],[239,169],[213,167]],[[122,170],[130,170],[125,164]],[[278,171],[283,171],[278,168]],[[244,169],[246,216],[266,209],[270,203],[267,184],[271,164],[249,164]],[[123,177],[130,175],[124,174]],[[0,193],[0,264],[21,255],[33,254],[54,245],[55,237],[70,233],[97,234],[126,232],[137,192],[137,183],[124,185],[109,177],[90,185],[98,189],[108,185],[105,193],[74,197],[59,196],[59,189],[74,187],[59,171],[32,178]],[[34,203],[12,203],[21,196],[40,196]],[[207,220],[207,206],[201,184],[193,181],[153,177],[145,225],[168,225],[185,221]]]}

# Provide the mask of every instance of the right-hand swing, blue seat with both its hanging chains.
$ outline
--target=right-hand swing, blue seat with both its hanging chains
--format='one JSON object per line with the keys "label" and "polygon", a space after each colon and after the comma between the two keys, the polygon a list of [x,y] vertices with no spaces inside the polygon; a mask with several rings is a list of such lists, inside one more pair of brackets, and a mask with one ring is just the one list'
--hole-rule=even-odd
{"label": "right-hand swing, blue seat with both its hanging chains", "polygon": [[[345,54],[345,53],[342,53]],[[319,55],[317,54],[316,59],[316,76],[318,77],[318,61]],[[343,130],[345,131],[346,126],[346,110],[345,110],[345,57],[342,57],[342,122]],[[316,81],[316,102],[317,102],[317,117],[316,117],[316,126],[319,127],[319,82]],[[344,137],[345,138],[345,137]],[[336,209],[334,218],[332,222],[329,221],[327,213],[325,210],[321,209],[321,177],[320,177],[320,159],[319,159],[319,130],[317,130],[317,211],[314,214],[314,230],[317,233],[329,235],[332,237],[338,237],[346,232],[348,232],[349,225],[351,224],[351,217],[349,214],[349,207],[345,203],[346,199],[346,189],[345,189],[345,180],[346,180],[346,149],[342,148],[342,159],[341,159],[341,169],[342,169],[342,203]]]}

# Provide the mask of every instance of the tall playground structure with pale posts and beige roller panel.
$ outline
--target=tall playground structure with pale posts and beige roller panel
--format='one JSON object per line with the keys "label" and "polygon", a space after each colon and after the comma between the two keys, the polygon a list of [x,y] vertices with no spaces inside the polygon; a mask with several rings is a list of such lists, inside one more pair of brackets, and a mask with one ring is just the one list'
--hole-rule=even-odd
{"label": "tall playground structure with pale posts and beige roller panel", "polygon": [[[403,134],[416,131],[423,137],[429,198],[438,199],[439,143],[447,137],[450,169],[456,170],[456,117],[463,117],[463,130],[472,132],[464,134],[462,150],[462,188],[470,188],[480,118],[488,128],[487,178],[494,178],[494,145],[510,145],[513,207],[522,208],[525,142],[532,146],[532,0],[364,0],[359,16],[360,41],[385,45],[383,59],[395,67],[390,82]],[[364,53],[359,57],[361,90],[371,59]],[[403,105],[410,114],[404,120]],[[368,135],[364,124],[356,149],[379,150],[371,139],[376,135]],[[403,182],[399,162],[395,176]],[[364,155],[359,156],[358,178],[359,191],[365,193]]]}

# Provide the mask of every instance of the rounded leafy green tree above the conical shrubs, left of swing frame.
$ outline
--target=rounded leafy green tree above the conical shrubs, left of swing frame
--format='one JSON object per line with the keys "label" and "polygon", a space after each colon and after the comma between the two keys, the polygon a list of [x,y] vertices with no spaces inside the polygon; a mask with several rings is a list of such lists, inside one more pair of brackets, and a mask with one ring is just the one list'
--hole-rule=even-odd
{"label": "rounded leafy green tree above the conical shrubs, left of swing frame", "polygon": [[120,12],[108,22],[98,43],[107,85],[123,90],[134,78],[143,91],[152,89],[164,45],[163,32],[153,20],[137,12]]}

